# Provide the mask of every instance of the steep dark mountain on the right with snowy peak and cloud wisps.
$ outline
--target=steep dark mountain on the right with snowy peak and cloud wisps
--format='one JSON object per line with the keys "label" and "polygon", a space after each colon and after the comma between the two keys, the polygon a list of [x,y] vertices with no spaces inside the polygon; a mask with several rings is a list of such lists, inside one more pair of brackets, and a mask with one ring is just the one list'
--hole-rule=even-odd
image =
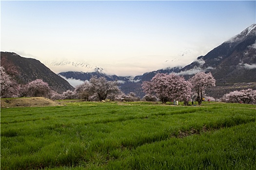
{"label": "steep dark mountain on the right with snowy peak and cloud wisps", "polygon": [[217,85],[256,80],[256,24],[225,41],[205,56],[180,69],[186,78],[200,71],[212,72]]}

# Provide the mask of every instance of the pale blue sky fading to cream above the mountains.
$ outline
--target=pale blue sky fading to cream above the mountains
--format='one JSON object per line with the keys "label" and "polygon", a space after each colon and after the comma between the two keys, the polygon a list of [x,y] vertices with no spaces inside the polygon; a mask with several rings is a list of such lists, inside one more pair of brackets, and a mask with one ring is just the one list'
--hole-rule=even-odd
{"label": "pale blue sky fading to cream above the mountains", "polygon": [[1,51],[42,63],[83,60],[116,75],[188,65],[256,23],[255,0],[1,1],[0,5]]}

